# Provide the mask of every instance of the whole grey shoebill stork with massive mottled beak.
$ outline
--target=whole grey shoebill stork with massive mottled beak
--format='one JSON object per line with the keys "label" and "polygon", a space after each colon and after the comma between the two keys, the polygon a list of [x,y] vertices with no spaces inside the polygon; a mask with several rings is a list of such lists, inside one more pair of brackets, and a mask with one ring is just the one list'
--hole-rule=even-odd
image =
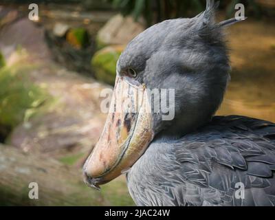
{"label": "whole grey shoebill stork with massive mottled beak", "polygon": [[[112,111],[83,167],[89,186],[126,173],[137,206],[275,205],[275,124],[213,116],[230,79],[223,31],[236,22],[216,23],[216,8],[209,0],[196,17],[153,25],[126,46]],[[153,89],[175,92],[172,120],[153,111],[162,103]]]}

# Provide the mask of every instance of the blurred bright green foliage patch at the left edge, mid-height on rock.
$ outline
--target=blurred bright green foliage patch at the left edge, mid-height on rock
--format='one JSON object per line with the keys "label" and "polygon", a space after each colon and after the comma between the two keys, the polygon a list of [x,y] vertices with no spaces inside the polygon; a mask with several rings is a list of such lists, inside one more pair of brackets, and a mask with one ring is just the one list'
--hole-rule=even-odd
{"label": "blurred bright green foliage patch at the left edge, mid-height on rock", "polygon": [[50,98],[30,82],[25,74],[27,70],[16,65],[0,69],[0,126],[14,128],[28,120]]}

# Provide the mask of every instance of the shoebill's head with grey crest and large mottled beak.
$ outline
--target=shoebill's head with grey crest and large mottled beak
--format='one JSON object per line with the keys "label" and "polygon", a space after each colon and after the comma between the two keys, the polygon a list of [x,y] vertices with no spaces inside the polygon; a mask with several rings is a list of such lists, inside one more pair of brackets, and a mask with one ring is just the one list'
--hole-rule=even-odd
{"label": "shoebill's head with grey crest and large mottled beak", "polygon": [[122,52],[109,115],[84,166],[90,186],[133,166],[153,137],[177,135],[208,122],[230,78],[223,41],[230,19],[215,23],[217,4],[192,19],[173,19],[139,34]]}

